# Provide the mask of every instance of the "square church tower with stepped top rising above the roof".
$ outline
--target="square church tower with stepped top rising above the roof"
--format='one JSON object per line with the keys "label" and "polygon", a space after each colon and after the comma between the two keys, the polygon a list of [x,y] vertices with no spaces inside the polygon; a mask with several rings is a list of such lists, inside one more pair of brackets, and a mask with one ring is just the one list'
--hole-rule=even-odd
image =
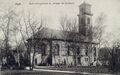
{"label": "square church tower with stepped top rising above the roof", "polygon": [[79,33],[89,38],[92,36],[92,15],[91,5],[83,2],[79,6]]}

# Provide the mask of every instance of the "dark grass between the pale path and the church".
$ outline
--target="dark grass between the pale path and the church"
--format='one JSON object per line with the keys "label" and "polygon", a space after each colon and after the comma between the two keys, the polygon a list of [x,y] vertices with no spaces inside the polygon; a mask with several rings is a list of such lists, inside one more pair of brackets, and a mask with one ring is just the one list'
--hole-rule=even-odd
{"label": "dark grass between the pale path and the church", "polygon": [[[37,69],[41,69],[41,67],[37,67]],[[75,71],[75,72],[89,72],[89,73],[113,73],[107,67],[103,66],[78,66],[78,67],[47,67],[44,69],[51,69],[51,70],[61,70],[61,71]]]}

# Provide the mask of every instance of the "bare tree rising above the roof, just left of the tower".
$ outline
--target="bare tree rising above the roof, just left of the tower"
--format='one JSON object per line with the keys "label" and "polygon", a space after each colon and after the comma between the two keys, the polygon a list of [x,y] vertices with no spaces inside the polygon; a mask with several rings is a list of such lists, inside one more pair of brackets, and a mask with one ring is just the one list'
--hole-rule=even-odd
{"label": "bare tree rising above the roof, just left of the tower", "polygon": [[[76,41],[79,39],[79,37],[76,35],[77,32],[77,20],[76,18],[68,18],[67,16],[62,16],[60,18],[60,25],[62,30],[62,35],[65,41],[65,47],[68,47],[68,38],[72,37],[72,52],[73,52],[73,58],[74,58],[74,64],[76,64]],[[68,63],[68,53],[66,54],[66,59]]]}

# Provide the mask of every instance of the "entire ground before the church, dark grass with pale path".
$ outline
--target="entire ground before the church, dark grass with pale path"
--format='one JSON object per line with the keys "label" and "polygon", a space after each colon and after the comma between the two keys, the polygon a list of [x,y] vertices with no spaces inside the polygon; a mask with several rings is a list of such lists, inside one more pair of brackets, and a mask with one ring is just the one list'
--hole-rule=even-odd
{"label": "entire ground before the church, dark grass with pale path", "polygon": [[[1,71],[1,75],[115,75],[104,67],[37,67],[29,70]],[[119,74],[118,74],[119,75]]]}

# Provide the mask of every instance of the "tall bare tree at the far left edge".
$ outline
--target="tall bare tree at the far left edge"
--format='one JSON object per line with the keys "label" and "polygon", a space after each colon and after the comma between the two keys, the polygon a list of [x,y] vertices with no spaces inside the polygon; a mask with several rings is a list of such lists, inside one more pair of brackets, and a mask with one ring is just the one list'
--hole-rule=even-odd
{"label": "tall bare tree at the far left edge", "polygon": [[[3,33],[3,44],[5,48],[5,55],[4,57],[8,57],[9,54],[9,47],[10,47],[10,35],[13,30],[13,24],[16,24],[16,16],[17,14],[14,12],[14,10],[9,9],[8,11],[3,11],[4,14],[0,17],[0,30]],[[7,61],[6,61],[7,63]]]}

